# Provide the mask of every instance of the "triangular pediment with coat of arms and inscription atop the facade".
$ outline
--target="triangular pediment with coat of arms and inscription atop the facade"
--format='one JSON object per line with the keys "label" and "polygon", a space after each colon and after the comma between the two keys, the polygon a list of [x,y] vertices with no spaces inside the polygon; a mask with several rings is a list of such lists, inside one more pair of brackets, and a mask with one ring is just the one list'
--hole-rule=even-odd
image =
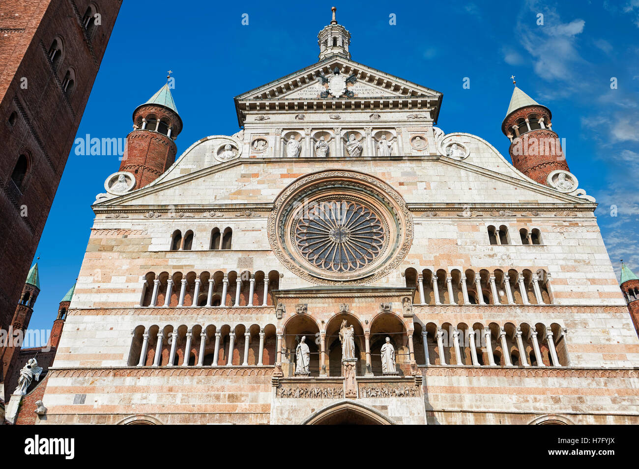
{"label": "triangular pediment with coat of arms and inscription atop the facade", "polygon": [[[337,71],[337,73],[335,73]],[[335,75],[339,75],[335,77]],[[331,82],[339,82],[331,87]],[[348,94],[339,94],[341,82]],[[323,91],[334,91],[328,96],[320,96]],[[243,100],[316,100],[357,99],[357,98],[431,98],[439,101],[442,93],[418,85],[403,78],[389,75],[380,70],[353,62],[345,57],[334,56],[312,64],[295,73],[286,75],[266,85],[254,88],[236,96]]]}

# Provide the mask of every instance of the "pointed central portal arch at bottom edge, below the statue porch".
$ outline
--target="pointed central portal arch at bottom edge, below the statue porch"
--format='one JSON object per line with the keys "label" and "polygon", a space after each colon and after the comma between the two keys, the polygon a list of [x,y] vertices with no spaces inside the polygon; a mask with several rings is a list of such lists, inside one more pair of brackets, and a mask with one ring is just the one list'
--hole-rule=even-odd
{"label": "pointed central portal arch at bottom edge, below the statue porch", "polygon": [[307,417],[302,425],[394,425],[389,417],[364,404],[337,401]]}

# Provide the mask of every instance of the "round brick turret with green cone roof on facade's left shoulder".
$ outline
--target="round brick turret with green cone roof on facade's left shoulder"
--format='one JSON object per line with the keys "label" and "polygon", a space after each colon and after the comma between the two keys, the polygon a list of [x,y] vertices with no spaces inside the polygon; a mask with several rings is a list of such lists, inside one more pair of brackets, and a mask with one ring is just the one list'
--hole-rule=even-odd
{"label": "round brick turret with green cone roof on facade's left shoulder", "polygon": [[168,82],[135,108],[133,122],[134,130],[127,135],[127,151],[119,170],[133,174],[134,189],[139,189],[155,181],[175,161],[174,140],[182,130],[182,119]]}

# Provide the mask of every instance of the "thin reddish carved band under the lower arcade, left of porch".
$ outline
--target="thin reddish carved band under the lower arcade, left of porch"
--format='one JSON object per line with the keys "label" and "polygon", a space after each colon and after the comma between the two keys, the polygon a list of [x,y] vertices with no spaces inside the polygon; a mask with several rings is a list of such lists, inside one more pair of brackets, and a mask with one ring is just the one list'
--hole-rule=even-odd
{"label": "thin reddish carved band under the lower arcade, left of porch", "polygon": [[49,368],[49,378],[142,377],[142,376],[270,376],[273,366],[171,366],[153,368]]}

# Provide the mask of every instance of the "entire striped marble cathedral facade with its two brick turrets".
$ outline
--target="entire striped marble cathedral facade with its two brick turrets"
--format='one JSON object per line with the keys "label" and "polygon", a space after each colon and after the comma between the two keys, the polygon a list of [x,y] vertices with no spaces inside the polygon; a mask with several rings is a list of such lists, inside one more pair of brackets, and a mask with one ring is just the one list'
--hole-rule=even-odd
{"label": "entire striped marble cathedral facade with its two brick turrets", "polygon": [[134,111],[40,424],[639,423],[639,338],[551,112],[491,144],[442,94],[351,59],[236,96],[176,158],[168,86]]}

